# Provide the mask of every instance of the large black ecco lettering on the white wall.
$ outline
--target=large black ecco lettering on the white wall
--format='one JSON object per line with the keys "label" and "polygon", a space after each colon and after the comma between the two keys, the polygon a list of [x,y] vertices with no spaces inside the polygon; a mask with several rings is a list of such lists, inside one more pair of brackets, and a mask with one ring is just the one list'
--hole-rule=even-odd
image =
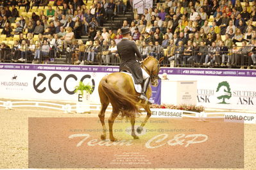
{"label": "large black ecco lettering on the white wall", "polygon": [[[38,77],[42,77],[40,79],[40,81],[36,84],[36,81],[37,81],[37,78]],[[53,89],[51,87],[51,80],[53,78],[57,77],[60,81],[62,80],[62,77],[58,74],[58,73],[55,73],[53,75],[51,75],[51,77],[49,77],[49,80],[48,80],[48,88],[49,90],[51,91],[51,93],[54,93],[54,94],[58,94],[60,93],[60,91],[62,91],[62,88],[58,88],[58,89]],[[90,75],[84,75],[83,77],[81,77],[81,82],[85,79],[90,79],[91,76]],[[74,79],[75,81],[78,80],[78,77],[76,77],[76,75],[74,74],[69,74],[67,75],[67,77],[65,77],[64,79],[64,89],[65,91],[69,94],[69,95],[73,95],[74,94],[74,89],[67,89],[67,81],[69,81],[69,79]],[[44,75],[44,73],[38,73],[37,74],[37,77],[34,77],[33,79],[33,87],[35,89],[35,91],[37,91],[37,93],[44,93],[44,91],[46,91],[46,87],[40,87],[40,85],[46,81],[46,75]],[[95,88],[95,81],[94,79],[92,79],[92,89],[94,91],[94,88]]]}

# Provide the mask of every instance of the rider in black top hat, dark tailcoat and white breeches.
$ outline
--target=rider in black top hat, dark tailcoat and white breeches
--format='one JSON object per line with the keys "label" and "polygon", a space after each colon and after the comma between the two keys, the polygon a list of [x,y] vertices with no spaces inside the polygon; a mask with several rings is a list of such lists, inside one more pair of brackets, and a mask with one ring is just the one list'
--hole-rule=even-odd
{"label": "rider in black top hat, dark tailcoat and white breeches", "polygon": [[[135,84],[142,84],[142,92],[139,98],[142,100],[148,100],[146,97],[146,91],[149,86],[150,76],[141,68],[141,53],[139,52],[135,43],[129,40],[130,33],[129,27],[121,28],[121,35],[123,35],[123,39],[121,42],[117,43],[117,52],[121,58],[119,70],[128,70],[130,73],[132,73]],[[137,61],[135,54],[137,55],[140,63]]]}

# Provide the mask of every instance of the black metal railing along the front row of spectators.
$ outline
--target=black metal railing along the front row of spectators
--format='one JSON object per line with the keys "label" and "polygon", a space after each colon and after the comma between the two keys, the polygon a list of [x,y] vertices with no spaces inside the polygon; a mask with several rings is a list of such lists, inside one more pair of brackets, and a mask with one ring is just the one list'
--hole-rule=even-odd
{"label": "black metal railing along the front row of spectators", "polygon": [[[11,46],[11,45],[10,45]],[[234,50],[227,49],[226,51],[220,52],[211,52],[209,46],[199,46],[197,49],[192,49],[190,53],[185,52],[187,46],[174,47],[167,46],[166,49],[158,48],[158,51],[153,45],[151,48],[149,46],[142,47],[141,45],[137,46],[139,51],[142,54],[142,58],[148,56],[154,56],[157,59],[164,57],[164,61],[160,66],[171,66],[171,67],[223,67],[228,68],[245,68],[253,65],[252,56],[256,52],[252,52],[253,47],[247,46],[243,47],[247,50]],[[201,50],[203,48],[205,50]],[[51,63],[55,64],[58,61],[65,62],[67,64],[79,64],[77,60],[85,61],[85,65],[119,65],[120,58],[116,51],[110,51],[99,47],[97,51],[94,51],[93,56],[92,52],[89,54],[88,49],[85,51],[78,50],[79,45],[67,45],[67,48],[52,48],[49,52],[44,53],[42,50],[42,45],[37,47],[35,51],[31,51],[26,47],[26,49],[15,49],[11,48],[2,48],[0,49],[0,61],[3,62],[25,62],[31,63],[35,60],[35,56],[39,56],[37,63]],[[200,49],[201,48],[201,49]],[[219,47],[218,47],[219,48]],[[237,47],[241,49],[242,47]],[[152,50],[155,49],[155,50]],[[25,59],[21,61],[21,58]],[[19,60],[20,59],[20,60]],[[90,62],[87,60],[91,60]]]}

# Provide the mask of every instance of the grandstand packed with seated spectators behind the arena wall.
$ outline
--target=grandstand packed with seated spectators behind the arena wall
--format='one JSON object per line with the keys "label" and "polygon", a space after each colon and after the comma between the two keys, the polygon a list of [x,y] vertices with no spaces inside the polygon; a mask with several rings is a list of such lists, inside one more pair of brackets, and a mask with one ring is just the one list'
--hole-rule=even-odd
{"label": "grandstand packed with seated spectators behind the arena wall", "polygon": [[118,65],[119,28],[130,26],[142,56],[164,56],[162,66],[255,68],[255,1],[158,0],[143,13],[131,3],[1,1],[0,61]]}

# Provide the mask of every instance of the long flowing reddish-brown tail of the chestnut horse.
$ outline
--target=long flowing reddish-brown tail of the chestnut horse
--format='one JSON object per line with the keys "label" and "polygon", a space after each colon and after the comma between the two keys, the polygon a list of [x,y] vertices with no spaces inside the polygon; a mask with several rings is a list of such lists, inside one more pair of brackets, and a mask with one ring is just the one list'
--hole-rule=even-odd
{"label": "long flowing reddish-brown tail of the chestnut horse", "polygon": [[102,79],[100,84],[105,95],[107,95],[110,100],[112,107],[119,109],[123,117],[130,118],[130,116],[135,116],[135,114],[139,113],[139,106],[142,106],[143,104],[137,102],[137,97],[135,95],[130,95],[114,88],[108,84],[107,79]]}

